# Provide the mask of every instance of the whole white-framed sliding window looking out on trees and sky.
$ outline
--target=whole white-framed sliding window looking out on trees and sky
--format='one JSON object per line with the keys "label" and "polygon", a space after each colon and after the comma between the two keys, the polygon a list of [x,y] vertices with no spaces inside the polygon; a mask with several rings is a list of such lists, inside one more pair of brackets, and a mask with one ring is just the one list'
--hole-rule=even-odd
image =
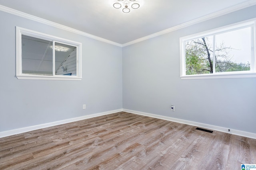
{"label": "whole white-framed sliding window looking out on trees and sky", "polygon": [[255,21],[180,38],[180,77],[256,77]]}

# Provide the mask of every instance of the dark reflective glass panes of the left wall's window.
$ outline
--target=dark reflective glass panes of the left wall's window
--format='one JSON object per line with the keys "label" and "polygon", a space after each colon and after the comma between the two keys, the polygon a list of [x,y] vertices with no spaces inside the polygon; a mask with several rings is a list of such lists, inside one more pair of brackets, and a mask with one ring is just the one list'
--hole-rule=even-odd
{"label": "dark reflective glass panes of the left wall's window", "polygon": [[[22,35],[22,73],[53,75],[53,42]],[[76,47],[55,43],[55,75],[76,76]]]}

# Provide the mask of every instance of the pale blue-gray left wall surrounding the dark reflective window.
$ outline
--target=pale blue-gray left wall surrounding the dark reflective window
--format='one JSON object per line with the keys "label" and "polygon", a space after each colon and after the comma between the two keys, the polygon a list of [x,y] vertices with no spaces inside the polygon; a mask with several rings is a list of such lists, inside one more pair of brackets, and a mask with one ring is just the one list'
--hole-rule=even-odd
{"label": "pale blue-gray left wall surrounding the dark reflective window", "polygon": [[[121,47],[2,11],[0,23],[0,132],[122,109]],[[18,80],[15,26],[81,42],[82,80]]]}

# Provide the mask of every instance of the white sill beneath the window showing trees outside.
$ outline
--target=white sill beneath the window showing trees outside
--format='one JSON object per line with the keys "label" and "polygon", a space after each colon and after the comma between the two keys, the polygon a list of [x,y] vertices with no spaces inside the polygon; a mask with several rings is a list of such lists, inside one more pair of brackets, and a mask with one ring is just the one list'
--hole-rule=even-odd
{"label": "white sill beneath the window showing trees outside", "polygon": [[218,78],[256,78],[256,73],[215,73],[215,74],[197,74],[180,76],[182,80],[190,79],[218,79]]}

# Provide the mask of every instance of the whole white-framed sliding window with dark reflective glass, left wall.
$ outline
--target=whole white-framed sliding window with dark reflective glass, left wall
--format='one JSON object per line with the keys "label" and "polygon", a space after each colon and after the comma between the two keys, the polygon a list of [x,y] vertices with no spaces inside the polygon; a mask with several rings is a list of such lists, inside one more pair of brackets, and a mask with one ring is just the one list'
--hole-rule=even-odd
{"label": "whole white-framed sliding window with dark reflective glass, left wall", "polygon": [[81,43],[16,27],[16,76],[81,80],[81,50]]}

